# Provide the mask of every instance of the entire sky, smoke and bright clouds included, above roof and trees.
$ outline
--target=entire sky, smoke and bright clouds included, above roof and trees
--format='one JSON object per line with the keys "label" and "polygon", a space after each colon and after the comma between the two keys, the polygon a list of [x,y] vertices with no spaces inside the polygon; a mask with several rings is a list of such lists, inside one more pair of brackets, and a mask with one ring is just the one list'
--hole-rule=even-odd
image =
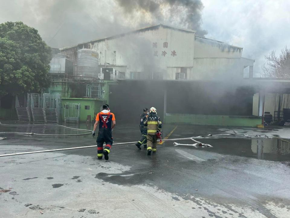
{"label": "entire sky, smoke and bright clouds included, above roof and trees", "polygon": [[[0,23],[23,21],[63,48],[160,22],[243,47],[260,77],[264,56],[290,47],[287,0],[0,0]],[[188,9],[193,8],[193,9]],[[191,15],[191,16],[188,16]]]}

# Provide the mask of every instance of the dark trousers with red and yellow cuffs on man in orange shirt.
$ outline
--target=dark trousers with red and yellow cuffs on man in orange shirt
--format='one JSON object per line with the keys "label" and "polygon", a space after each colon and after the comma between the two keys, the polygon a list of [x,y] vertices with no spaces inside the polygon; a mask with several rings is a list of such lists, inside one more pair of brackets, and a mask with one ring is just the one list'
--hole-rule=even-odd
{"label": "dark trousers with red and yellow cuffs on man in orange shirt", "polygon": [[99,128],[97,146],[98,146],[98,157],[103,156],[103,144],[106,143],[105,149],[110,153],[111,146],[113,145],[112,130],[108,128]]}

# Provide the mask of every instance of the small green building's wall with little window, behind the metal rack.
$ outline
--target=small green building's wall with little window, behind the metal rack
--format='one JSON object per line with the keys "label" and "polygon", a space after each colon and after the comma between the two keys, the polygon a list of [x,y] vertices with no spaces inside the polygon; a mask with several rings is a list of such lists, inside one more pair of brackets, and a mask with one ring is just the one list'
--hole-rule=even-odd
{"label": "small green building's wall with little window, behind the metal rack", "polygon": [[[80,109],[80,122],[86,122],[87,116],[91,115],[91,120],[94,119],[95,114],[101,111],[101,107],[105,104],[104,101],[99,101],[94,98],[63,98],[63,107],[65,103],[81,104]],[[89,110],[85,109],[85,106],[89,106]],[[63,120],[64,120],[64,108],[63,108]]]}

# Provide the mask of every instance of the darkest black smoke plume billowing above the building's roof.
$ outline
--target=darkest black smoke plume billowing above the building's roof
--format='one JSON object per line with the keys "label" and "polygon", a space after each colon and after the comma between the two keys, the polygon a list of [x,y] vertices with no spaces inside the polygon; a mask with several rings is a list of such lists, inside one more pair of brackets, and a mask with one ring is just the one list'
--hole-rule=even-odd
{"label": "darkest black smoke plume billowing above the building's roof", "polygon": [[[149,13],[155,21],[165,24],[188,28],[197,31],[197,35],[204,36],[208,32],[201,28],[201,12],[204,8],[200,0],[117,0],[129,15],[135,11]],[[169,6],[169,17],[162,13],[164,7]]]}

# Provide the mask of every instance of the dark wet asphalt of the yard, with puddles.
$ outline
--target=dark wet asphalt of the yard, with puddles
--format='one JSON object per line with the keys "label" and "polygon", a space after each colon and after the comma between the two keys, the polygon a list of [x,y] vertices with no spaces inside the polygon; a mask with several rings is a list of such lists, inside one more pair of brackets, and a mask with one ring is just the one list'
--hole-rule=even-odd
{"label": "dark wet asphalt of the yard, with puddles", "polygon": [[[13,123],[11,123],[13,124]],[[165,125],[163,137],[177,126],[169,138],[185,138],[208,134],[232,133],[234,127],[194,126],[194,125]],[[81,129],[92,129],[91,124],[72,125]],[[253,128],[237,127],[240,134],[252,134]],[[290,129],[289,129],[290,130]],[[34,126],[34,127],[3,127],[0,131],[34,132],[42,134],[76,134],[80,131],[68,130],[62,127]],[[237,130],[236,130],[237,131]],[[282,137],[284,140],[274,138],[223,138],[198,139],[202,143],[211,144],[213,148],[192,147],[186,145],[173,146],[173,141],[164,142],[157,147],[157,153],[147,155],[145,149],[138,150],[134,144],[112,146],[109,162],[130,166],[122,173],[111,173],[104,169],[95,175],[95,178],[106,183],[134,186],[149,185],[160,190],[175,193],[173,200],[192,200],[202,207],[196,198],[206,199],[224,205],[232,214],[208,213],[209,217],[252,217],[238,213],[231,206],[232,203],[240,206],[250,206],[265,217],[287,217],[266,208],[268,202],[279,205],[286,211],[290,210],[290,143],[288,139],[279,135],[279,128],[258,130],[259,134],[269,134]],[[4,135],[0,135],[3,137]],[[27,147],[41,147],[43,150],[59,149],[95,145],[95,138],[88,136],[71,137],[42,137],[5,135],[7,140],[0,141],[0,153],[25,152]],[[140,131],[137,125],[118,124],[113,131],[114,142],[137,141]],[[180,144],[193,144],[190,140],[176,141]],[[4,148],[3,148],[3,145]],[[9,145],[21,145],[21,150],[9,149]],[[96,148],[58,151],[60,155],[79,155],[92,157],[97,160]],[[43,153],[44,154],[44,153]],[[34,155],[22,155],[22,159]],[[16,157],[16,156],[15,156]],[[45,156],[43,156],[45,157]],[[1,160],[1,157],[0,157]],[[47,160],[50,164],[51,160]],[[65,163],[64,163],[65,164]],[[9,171],[9,164],[0,164],[0,172]],[[64,165],[65,167],[65,165]],[[39,175],[35,176],[36,178]],[[53,178],[51,173],[51,178]],[[77,177],[77,176],[76,176]],[[34,176],[24,178],[34,179]],[[76,181],[78,178],[75,178]],[[50,180],[50,179],[47,179]],[[6,184],[5,184],[6,183]],[[0,187],[7,187],[11,181],[2,180]],[[52,184],[59,188],[63,184]],[[13,187],[16,189],[16,187]],[[25,188],[25,187],[22,187]],[[3,190],[3,188],[2,188]],[[1,195],[4,193],[0,193]],[[195,196],[192,199],[190,196]],[[214,206],[214,205],[212,205]],[[0,206],[1,208],[1,206]],[[3,209],[3,208],[2,208]],[[204,209],[206,210],[206,209]],[[290,212],[288,213],[290,214]],[[0,215],[1,217],[1,215]],[[76,216],[78,217],[78,216]],[[196,216],[203,217],[203,216]],[[254,217],[254,216],[253,216]],[[288,216],[290,217],[290,216]]]}

